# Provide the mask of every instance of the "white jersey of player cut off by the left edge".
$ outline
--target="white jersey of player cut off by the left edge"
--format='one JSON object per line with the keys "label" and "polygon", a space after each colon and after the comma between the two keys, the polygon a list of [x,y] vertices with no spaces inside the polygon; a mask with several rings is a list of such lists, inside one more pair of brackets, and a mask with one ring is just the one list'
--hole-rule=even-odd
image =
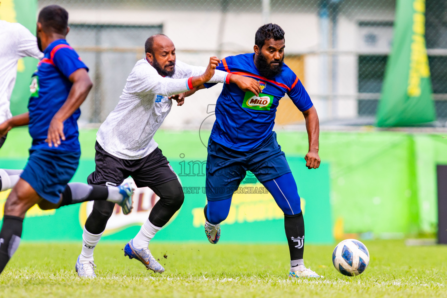
{"label": "white jersey of player cut off by the left edge", "polygon": [[12,117],[9,100],[17,77],[17,61],[23,57],[42,59],[37,38],[19,23],[0,20],[0,123]]}

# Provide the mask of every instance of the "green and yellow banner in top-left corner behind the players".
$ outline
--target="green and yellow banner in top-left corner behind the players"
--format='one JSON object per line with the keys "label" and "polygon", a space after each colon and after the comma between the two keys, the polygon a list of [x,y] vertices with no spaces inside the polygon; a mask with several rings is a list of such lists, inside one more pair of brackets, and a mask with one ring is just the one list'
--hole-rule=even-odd
{"label": "green and yellow banner in top-left corner behind the players", "polygon": [[[0,20],[20,23],[33,34],[36,32],[37,0],[1,0]],[[37,41],[36,41],[37,42]],[[25,113],[30,97],[30,78],[36,70],[37,59],[25,57],[17,62],[17,79],[11,96],[11,113]]]}

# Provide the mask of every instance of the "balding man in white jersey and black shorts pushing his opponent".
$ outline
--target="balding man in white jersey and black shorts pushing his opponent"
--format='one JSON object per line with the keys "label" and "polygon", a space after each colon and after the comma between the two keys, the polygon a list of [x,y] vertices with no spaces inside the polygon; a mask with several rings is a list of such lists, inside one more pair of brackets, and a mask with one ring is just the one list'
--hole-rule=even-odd
{"label": "balding man in white jersey and black shorts pushing his opponent", "polygon": [[[195,67],[176,61],[173,42],[163,34],[148,38],[146,58],[139,60],[127,78],[115,107],[97,133],[95,172],[89,185],[120,185],[131,176],[137,187],[151,188],[160,200],[135,238],[124,248],[124,256],[137,259],[147,269],[162,273],[164,268],[148,249],[149,241],[180,209],[184,194],[168,160],[153,136],[171,110],[171,96],[187,92],[205,82],[235,83],[239,88],[261,92],[258,81],[215,71],[220,62],[210,58],[208,67]],[[183,95],[174,97],[178,105]],[[96,277],[93,249],[97,245],[114,204],[96,201],[84,226],[82,251],[76,261],[80,277]]]}

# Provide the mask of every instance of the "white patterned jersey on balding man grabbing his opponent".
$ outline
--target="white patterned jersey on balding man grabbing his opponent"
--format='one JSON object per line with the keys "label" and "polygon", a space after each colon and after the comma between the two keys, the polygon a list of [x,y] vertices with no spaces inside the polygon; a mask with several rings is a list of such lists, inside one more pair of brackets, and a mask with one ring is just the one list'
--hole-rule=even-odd
{"label": "white patterned jersey on balding man grabbing his opponent", "polygon": [[[121,159],[140,159],[158,144],[153,136],[172,107],[170,95],[188,91],[188,78],[200,76],[205,67],[175,63],[172,77],[163,77],[146,59],[139,60],[115,109],[97,132],[97,142],[111,155]],[[228,72],[216,70],[210,83],[224,83]]]}

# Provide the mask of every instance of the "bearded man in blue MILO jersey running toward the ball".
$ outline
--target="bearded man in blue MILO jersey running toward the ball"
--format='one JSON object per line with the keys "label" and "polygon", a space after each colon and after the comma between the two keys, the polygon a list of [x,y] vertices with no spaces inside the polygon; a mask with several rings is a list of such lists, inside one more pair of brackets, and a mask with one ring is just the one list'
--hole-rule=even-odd
{"label": "bearded man in blue MILO jersey running toward the ball", "polygon": [[[225,84],[217,100],[216,121],[208,142],[205,232],[211,243],[220,237],[220,222],[228,216],[232,194],[247,171],[272,194],[284,212],[290,250],[290,277],[321,277],[304,266],[304,218],[295,179],[272,131],[279,100],[286,94],[303,113],[308,131],[306,166],[320,166],[319,122],[316,109],[301,81],[284,59],[284,31],[276,24],[261,26],[254,53],[230,56],[216,69],[259,80],[261,92],[244,92]],[[204,84],[200,88],[209,88]],[[188,96],[192,94],[190,91]],[[223,188],[222,188],[223,187]],[[222,189],[225,189],[222,193]]]}

